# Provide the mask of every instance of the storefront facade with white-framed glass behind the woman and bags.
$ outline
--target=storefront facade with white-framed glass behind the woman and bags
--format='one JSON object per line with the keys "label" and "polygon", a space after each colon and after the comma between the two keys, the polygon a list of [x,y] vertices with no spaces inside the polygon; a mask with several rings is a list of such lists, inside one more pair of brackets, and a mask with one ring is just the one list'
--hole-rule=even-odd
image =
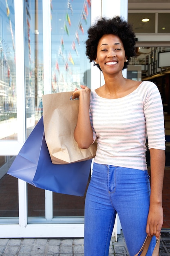
{"label": "storefront facade with white-framed glass behind the woman and bags", "polygon": [[[84,42],[96,17],[115,15],[133,23],[137,37],[124,76],[155,81],[168,114],[170,1],[0,0],[1,238],[84,236],[85,196],[44,191],[7,171],[43,114],[43,94],[103,84]],[[119,229],[118,220],[113,235]]]}

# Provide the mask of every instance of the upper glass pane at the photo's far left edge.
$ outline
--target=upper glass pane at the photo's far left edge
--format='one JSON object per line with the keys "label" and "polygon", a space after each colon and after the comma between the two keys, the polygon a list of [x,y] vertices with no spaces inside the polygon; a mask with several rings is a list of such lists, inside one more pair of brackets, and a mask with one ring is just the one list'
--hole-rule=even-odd
{"label": "upper glass pane at the photo's far left edge", "polygon": [[0,1],[0,139],[17,140],[14,1]]}

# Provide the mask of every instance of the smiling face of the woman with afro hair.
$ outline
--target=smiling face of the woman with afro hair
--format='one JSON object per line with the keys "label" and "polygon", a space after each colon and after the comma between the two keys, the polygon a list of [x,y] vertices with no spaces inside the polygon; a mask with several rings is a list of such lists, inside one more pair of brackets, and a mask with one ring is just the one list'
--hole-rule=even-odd
{"label": "smiling face of the woman with afro hair", "polygon": [[126,60],[124,45],[119,36],[106,34],[100,38],[95,61],[103,73],[122,72]]}

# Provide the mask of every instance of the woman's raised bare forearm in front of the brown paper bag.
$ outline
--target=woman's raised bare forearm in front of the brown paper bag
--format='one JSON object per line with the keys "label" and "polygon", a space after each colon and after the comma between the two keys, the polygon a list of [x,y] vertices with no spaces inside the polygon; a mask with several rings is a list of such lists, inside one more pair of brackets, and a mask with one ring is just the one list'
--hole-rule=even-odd
{"label": "woman's raised bare forearm in front of the brown paper bag", "polygon": [[79,112],[74,137],[80,148],[88,148],[93,143],[93,130],[89,117],[90,94],[82,90],[79,94]]}

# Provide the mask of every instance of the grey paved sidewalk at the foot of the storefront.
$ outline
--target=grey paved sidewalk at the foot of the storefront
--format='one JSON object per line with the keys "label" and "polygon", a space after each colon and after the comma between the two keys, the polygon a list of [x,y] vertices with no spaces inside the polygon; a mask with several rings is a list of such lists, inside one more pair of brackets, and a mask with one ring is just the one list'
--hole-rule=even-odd
{"label": "grey paved sidewalk at the foot of the storefront", "polygon": [[[128,256],[123,234],[113,237],[109,256]],[[0,238],[0,256],[84,256],[84,239]],[[159,256],[170,256],[170,229],[161,232]]]}

